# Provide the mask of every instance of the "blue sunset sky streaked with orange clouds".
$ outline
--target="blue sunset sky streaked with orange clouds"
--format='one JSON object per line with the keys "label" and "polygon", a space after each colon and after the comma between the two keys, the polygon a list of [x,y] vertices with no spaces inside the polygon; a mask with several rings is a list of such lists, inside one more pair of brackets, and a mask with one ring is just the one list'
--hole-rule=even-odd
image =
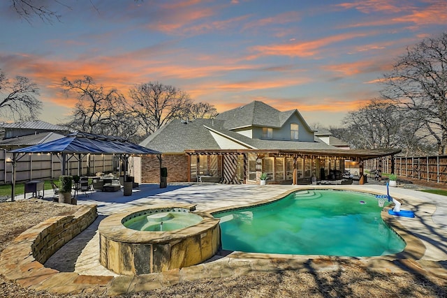
{"label": "blue sunset sky streaked with orange clouds", "polygon": [[0,68],[41,87],[40,119],[53,124],[77,100],[61,78],[90,75],[125,95],[158,81],[218,112],[261,100],[341,126],[406,47],[447,31],[446,0],[59,2],[47,0],[52,24],[0,3]]}

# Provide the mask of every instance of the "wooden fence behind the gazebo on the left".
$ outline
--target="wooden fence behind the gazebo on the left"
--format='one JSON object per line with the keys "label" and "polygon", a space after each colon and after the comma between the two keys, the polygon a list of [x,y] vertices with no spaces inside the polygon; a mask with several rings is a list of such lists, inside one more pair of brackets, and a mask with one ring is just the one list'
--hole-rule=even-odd
{"label": "wooden fence behind the gazebo on the left", "polygon": [[[0,184],[10,184],[13,165],[10,162],[12,154],[0,150]],[[16,181],[58,179],[61,175],[61,158],[57,154],[25,154],[20,155],[15,172]],[[94,175],[96,172],[118,172],[119,157],[113,154],[91,154],[82,158],[81,170],[78,170],[78,156],[68,156],[68,174]]]}

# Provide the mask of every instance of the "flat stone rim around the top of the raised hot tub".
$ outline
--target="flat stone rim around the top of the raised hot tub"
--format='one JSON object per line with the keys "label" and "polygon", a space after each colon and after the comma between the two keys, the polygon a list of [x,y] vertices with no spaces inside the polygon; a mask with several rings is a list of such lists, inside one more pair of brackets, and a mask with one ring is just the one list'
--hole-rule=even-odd
{"label": "flat stone rim around the top of the raised hot tub", "polygon": [[[200,223],[191,225],[180,230],[171,231],[138,231],[126,228],[122,222],[124,218],[128,218],[132,214],[139,214],[142,211],[147,210],[160,210],[167,211],[171,209],[186,209],[191,211],[191,213],[196,214],[203,218]],[[176,239],[184,239],[188,236],[193,236],[201,234],[203,231],[216,225],[219,222],[219,218],[214,218],[209,213],[203,211],[194,211],[196,209],[195,204],[166,204],[166,205],[156,205],[154,207],[135,207],[126,210],[125,212],[112,214],[101,221],[98,226],[99,234],[119,242],[129,242],[135,244],[146,244],[146,243],[163,243],[167,241],[175,241]],[[171,210],[172,211],[172,210]]]}

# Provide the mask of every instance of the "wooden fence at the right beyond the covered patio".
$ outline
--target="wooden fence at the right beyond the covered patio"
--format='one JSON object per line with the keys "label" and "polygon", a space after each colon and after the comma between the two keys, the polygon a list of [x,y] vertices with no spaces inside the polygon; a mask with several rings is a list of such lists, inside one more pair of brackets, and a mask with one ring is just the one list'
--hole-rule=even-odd
{"label": "wooden fence at the right beyond the covered patio", "polygon": [[447,156],[391,156],[376,158],[365,162],[365,169],[391,172],[391,163],[395,163],[395,174],[399,177],[409,177],[427,182],[447,184]]}

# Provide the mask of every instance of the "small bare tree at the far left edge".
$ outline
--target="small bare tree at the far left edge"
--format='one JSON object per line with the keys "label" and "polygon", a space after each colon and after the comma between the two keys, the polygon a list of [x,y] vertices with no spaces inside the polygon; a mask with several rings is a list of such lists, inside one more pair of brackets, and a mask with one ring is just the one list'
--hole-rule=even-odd
{"label": "small bare tree at the far left edge", "polygon": [[42,102],[36,96],[39,88],[27,77],[16,76],[9,80],[0,69],[0,114],[15,121],[36,119]]}

